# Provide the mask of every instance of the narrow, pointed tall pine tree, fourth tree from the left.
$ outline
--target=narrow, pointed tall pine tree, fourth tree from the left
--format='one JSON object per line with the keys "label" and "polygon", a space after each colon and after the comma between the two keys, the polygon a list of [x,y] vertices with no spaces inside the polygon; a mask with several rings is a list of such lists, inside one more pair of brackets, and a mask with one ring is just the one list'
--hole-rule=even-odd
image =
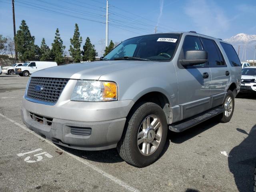
{"label": "narrow, pointed tall pine tree, fourth tree from the left", "polygon": [[80,32],[77,24],[75,24],[74,36],[73,38],[70,38],[70,43],[70,49],[68,50],[70,52],[70,56],[74,58],[75,63],[80,63],[82,59],[80,50],[82,37],[80,37]]}

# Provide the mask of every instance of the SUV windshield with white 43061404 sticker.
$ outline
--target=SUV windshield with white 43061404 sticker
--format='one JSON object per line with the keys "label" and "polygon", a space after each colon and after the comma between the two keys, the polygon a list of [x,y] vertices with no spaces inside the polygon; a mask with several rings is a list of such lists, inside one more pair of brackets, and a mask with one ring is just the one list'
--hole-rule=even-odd
{"label": "SUV windshield with white 43061404 sticker", "polygon": [[120,43],[103,60],[141,58],[152,61],[170,60],[180,34],[152,34],[134,37]]}

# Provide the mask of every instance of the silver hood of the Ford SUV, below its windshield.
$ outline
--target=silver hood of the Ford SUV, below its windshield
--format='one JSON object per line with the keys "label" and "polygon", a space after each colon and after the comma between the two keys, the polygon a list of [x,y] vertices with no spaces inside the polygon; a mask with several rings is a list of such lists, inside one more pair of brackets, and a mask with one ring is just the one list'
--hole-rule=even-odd
{"label": "silver hood of the Ford SUV, below its windshield", "polygon": [[103,74],[125,68],[146,65],[148,62],[151,61],[111,60],[66,64],[39,70],[34,72],[31,76],[98,80]]}

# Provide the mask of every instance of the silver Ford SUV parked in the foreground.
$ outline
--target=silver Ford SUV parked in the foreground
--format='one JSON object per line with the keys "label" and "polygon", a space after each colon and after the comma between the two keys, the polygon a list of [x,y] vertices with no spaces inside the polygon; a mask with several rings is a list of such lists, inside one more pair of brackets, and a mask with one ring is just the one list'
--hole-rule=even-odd
{"label": "silver Ford SUV parked in the foreground", "polygon": [[220,39],[196,32],[139,36],[102,61],[33,73],[22,119],[56,144],[117,148],[142,167],[160,156],[168,129],[182,132],[213,116],[229,122],[240,78],[234,48]]}

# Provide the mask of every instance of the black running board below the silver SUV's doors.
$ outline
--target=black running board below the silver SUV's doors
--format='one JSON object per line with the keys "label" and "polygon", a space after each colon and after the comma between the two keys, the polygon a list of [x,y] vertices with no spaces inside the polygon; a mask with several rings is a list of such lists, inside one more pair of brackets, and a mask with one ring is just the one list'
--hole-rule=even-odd
{"label": "black running board below the silver SUV's doors", "polygon": [[225,111],[224,108],[217,107],[212,110],[201,113],[199,115],[196,115],[192,118],[188,118],[188,119],[182,120],[180,122],[171,124],[169,126],[169,129],[174,132],[182,132],[182,131],[187,130],[193,126],[196,126],[197,124],[200,124],[218,114],[221,114],[224,111]]}

